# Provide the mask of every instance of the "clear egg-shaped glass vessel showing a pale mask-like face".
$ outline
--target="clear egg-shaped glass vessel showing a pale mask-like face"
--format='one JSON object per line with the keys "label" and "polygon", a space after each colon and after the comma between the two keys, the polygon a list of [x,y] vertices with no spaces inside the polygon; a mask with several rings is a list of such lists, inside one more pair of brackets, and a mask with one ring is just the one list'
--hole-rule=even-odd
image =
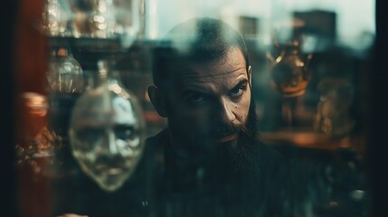
{"label": "clear egg-shaped glass vessel showing a pale mask-like face", "polygon": [[118,71],[99,61],[99,86],[77,100],[69,130],[72,154],[82,171],[108,192],[133,173],[144,148],[145,120],[137,97]]}

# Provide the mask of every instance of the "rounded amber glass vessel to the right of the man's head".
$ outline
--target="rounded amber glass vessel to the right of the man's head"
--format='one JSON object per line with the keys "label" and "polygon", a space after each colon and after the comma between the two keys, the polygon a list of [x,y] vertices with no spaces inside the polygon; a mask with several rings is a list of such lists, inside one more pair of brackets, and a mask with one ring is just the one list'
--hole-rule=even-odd
{"label": "rounded amber glass vessel to the right of the man's head", "polygon": [[293,35],[286,42],[279,42],[279,37],[280,34],[275,32],[273,48],[267,52],[267,58],[271,86],[280,95],[280,126],[301,127],[301,111],[305,109],[305,93],[312,76],[310,61],[313,54],[303,52],[301,35]]}

